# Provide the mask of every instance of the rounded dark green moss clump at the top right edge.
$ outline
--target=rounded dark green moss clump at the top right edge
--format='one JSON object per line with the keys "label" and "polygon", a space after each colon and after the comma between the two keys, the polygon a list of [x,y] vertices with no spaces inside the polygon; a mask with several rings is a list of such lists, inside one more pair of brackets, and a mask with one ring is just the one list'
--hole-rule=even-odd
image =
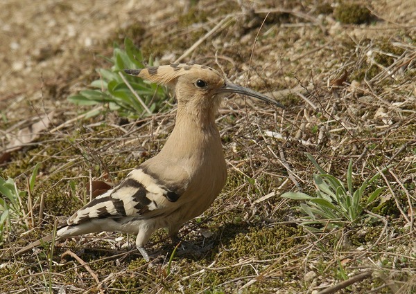
{"label": "rounded dark green moss clump at the top right edge", "polygon": [[371,20],[371,12],[362,3],[340,3],[333,16],[343,24],[364,24]]}

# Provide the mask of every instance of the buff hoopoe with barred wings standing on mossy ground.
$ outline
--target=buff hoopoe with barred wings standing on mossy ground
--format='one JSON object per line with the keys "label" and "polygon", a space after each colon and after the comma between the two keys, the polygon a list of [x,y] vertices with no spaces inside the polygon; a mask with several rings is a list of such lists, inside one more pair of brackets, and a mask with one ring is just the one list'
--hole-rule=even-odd
{"label": "buff hoopoe with barred wings standing on mossy ground", "polygon": [[[69,217],[56,232],[56,240],[102,231],[137,234],[137,249],[149,261],[144,246],[150,235],[168,228],[169,236],[176,237],[182,224],[205,212],[225,185],[227,167],[215,124],[220,94],[240,93],[283,106],[227,82],[208,66],[171,64],[125,73],[175,86],[175,127],[159,154]],[[44,237],[17,254],[51,239],[52,235]]]}

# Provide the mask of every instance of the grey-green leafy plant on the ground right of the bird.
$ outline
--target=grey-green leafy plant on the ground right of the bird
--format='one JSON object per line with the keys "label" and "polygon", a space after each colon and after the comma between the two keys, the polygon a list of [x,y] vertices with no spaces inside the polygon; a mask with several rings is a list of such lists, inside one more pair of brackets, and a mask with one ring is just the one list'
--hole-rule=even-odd
{"label": "grey-green leafy plant on the ground right of the bird", "polygon": [[[327,174],[320,167],[311,154],[306,154],[311,160],[319,174],[313,174],[313,181],[317,188],[316,195],[310,196],[302,192],[286,192],[281,196],[288,199],[304,200],[297,209],[305,216],[302,226],[320,224],[324,228],[340,228],[345,222],[354,223],[363,217],[363,211],[372,204],[383,192],[385,187],[377,187],[373,191],[365,190],[374,183],[380,174],[377,173],[372,178],[366,179],[360,187],[353,190],[352,186],[352,160],[349,160],[347,169],[347,188],[338,178]],[[314,228],[311,228],[314,230]]]}

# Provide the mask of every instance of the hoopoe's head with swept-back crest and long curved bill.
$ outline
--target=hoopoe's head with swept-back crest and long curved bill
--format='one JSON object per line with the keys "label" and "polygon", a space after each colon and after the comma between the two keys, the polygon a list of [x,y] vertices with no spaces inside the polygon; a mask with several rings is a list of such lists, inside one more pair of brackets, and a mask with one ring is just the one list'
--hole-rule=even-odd
{"label": "hoopoe's head with swept-back crest and long curved bill", "polygon": [[218,71],[198,64],[171,64],[141,69],[125,69],[125,73],[157,84],[175,86],[180,107],[206,111],[216,110],[220,94],[239,93],[284,108],[279,102],[251,89],[227,82]]}

